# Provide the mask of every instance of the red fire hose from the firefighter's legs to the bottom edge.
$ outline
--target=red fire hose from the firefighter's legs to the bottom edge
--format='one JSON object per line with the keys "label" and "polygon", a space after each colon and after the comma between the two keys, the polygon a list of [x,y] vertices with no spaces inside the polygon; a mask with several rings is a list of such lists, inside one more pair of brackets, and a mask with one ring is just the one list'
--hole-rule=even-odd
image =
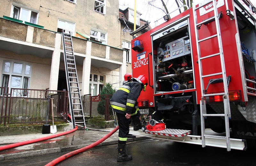
{"label": "red fire hose from the firefighter's legs to the bottom edge", "polygon": [[110,137],[112,134],[114,134],[117,130],[119,129],[119,126],[117,126],[114,130],[112,130],[111,132],[109,132],[106,136],[104,136],[103,138],[101,138],[100,140],[92,143],[91,145],[88,145],[86,147],[82,147],[80,149],[77,149],[75,151],[69,152],[65,155],[62,155],[58,158],[56,158],[55,160],[53,160],[52,162],[49,162],[48,164],[46,164],[45,166],[50,166],[50,165],[56,165],[60,162],[62,162],[63,160],[66,160],[69,157],[72,157],[74,155],[77,155],[79,153],[82,153],[88,149],[91,149],[92,147],[95,147],[96,145],[100,144],[101,142],[103,142],[104,140],[106,140],[108,137]]}

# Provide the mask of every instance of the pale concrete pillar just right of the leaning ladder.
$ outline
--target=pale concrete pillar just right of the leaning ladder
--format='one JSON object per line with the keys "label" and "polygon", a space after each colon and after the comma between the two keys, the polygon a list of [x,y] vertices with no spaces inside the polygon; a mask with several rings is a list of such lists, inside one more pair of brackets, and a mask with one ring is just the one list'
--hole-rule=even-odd
{"label": "pale concrete pillar just right of the leaning ladder", "polygon": [[92,42],[86,42],[86,55],[83,63],[83,76],[82,76],[82,87],[81,96],[84,94],[90,94],[89,84],[90,84],[90,73],[91,73],[91,52],[92,52]]}

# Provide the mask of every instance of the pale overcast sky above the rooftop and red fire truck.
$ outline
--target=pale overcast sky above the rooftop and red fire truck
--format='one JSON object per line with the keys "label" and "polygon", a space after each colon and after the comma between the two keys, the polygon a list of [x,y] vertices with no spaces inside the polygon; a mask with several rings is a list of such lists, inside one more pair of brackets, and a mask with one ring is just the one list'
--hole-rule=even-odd
{"label": "pale overcast sky above the rooftop and red fire truck", "polygon": [[[136,10],[142,14],[140,16],[141,19],[145,19],[146,21],[149,21],[150,26],[154,28],[156,24],[155,21],[160,19],[157,21],[157,24],[158,25],[161,24],[162,22],[164,22],[164,19],[161,19],[161,18],[163,18],[163,16],[166,14],[162,10],[156,8],[156,7],[163,8],[163,5],[160,0],[156,0],[156,2],[153,3],[153,5],[156,7],[148,4],[148,1],[151,1],[151,0],[136,0],[136,4],[137,4]],[[194,0],[194,3],[198,4],[202,1],[203,0]],[[165,0],[165,2],[166,2],[166,6],[169,13],[177,9],[177,4],[174,0]],[[251,0],[251,2],[252,4],[256,4],[256,0]],[[120,9],[124,10],[127,7],[134,9],[134,0],[119,0]],[[171,17],[177,14],[179,14],[179,11],[172,13]]]}

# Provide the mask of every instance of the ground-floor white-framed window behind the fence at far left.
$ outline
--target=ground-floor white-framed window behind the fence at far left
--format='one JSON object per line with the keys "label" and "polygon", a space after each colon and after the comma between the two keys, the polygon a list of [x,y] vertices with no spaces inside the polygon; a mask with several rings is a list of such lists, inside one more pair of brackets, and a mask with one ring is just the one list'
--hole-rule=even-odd
{"label": "ground-floor white-framed window behind the fence at far left", "polygon": [[[31,76],[31,65],[24,62],[4,61],[2,87],[28,89]],[[7,92],[4,92],[7,93]],[[27,90],[14,90],[13,96],[28,96]],[[3,92],[1,92],[3,94]]]}

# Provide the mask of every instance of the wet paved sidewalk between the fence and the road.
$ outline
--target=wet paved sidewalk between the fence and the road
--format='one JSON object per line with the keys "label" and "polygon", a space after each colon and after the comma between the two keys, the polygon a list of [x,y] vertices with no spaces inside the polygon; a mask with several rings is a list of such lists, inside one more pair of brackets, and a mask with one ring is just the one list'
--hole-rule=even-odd
{"label": "wet paved sidewalk between the fence and the road", "polygon": [[[86,127],[93,128],[90,125],[87,125]],[[112,131],[113,129],[114,128],[107,128],[102,130]],[[70,130],[72,130],[72,127],[70,128]],[[61,132],[63,131],[58,131],[55,134],[58,134]],[[0,151],[0,161],[29,157],[29,156],[73,151],[76,149],[80,149],[82,147],[86,147],[96,142],[97,140],[100,140],[107,134],[108,132],[84,130],[84,129],[78,128],[77,131],[60,136],[60,137]],[[1,136],[0,146],[27,141],[27,140],[38,139],[38,138],[47,137],[50,135],[54,135],[54,134],[36,133],[36,134]],[[147,137],[136,136],[136,138],[128,138],[127,142],[142,140],[142,139],[147,139]],[[118,140],[118,130],[112,136],[110,136],[107,140],[103,141],[97,146],[105,146],[105,145],[113,145],[113,144],[117,145],[117,140]]]}

